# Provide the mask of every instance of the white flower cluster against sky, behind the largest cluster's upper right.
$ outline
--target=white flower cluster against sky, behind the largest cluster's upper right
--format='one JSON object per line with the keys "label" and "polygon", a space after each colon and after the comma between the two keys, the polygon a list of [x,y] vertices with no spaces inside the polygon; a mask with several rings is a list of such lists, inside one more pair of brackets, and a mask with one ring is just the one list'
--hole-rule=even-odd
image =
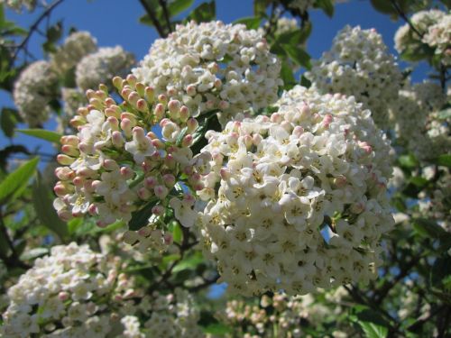
{"label": "white flower cluster against sky, behind the largest cluster's upper right", "polygon": [[402,76],[378,32],[346,26],[334,38],[332,49],[312,63],[306,77],[314,87],[355,96],[372,111],[379,127],[387,126],[387,105],[396,99]]}

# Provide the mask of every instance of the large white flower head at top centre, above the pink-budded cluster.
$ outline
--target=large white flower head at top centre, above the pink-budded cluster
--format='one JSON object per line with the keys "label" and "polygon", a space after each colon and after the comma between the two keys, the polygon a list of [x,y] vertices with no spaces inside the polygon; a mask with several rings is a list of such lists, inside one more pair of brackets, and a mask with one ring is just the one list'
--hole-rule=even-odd
{"label": "large white flower head at top centre, above the pink-budded cluster", "polygon": [[216,110],[226,123],[277,100],[281,65],[269,49],[262,33],[244,24],[191,22],[155,41],[133,74],[194,115]]}

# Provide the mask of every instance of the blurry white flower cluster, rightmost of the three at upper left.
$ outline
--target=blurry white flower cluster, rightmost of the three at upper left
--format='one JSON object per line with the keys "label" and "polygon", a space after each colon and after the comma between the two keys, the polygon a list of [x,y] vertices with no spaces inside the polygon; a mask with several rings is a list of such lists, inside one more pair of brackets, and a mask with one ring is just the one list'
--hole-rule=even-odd
{"label": "blurry white flower cluster, rightmost of the three at upper left", "polygon": [[78,62],[75,71],[77,86],[85,91],[101,83],[109,84],[116,75],[126,75],[134,62],[133,54],[120,46],[100,48]]}

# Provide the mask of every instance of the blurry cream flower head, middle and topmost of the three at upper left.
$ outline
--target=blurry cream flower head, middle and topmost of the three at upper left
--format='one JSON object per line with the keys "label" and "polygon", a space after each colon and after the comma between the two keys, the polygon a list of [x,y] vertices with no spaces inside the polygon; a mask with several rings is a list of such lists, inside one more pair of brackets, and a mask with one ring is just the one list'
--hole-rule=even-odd
{"label": "blurry cream flower head, middle and topmost of the three at upper left", "polygon": [[[60,74],[75,67],[80,59],[97,50],[97,40],[89,32],[73,32],[54,54],[51,65]],[[97,83],[98,86],[98,83]]]}

